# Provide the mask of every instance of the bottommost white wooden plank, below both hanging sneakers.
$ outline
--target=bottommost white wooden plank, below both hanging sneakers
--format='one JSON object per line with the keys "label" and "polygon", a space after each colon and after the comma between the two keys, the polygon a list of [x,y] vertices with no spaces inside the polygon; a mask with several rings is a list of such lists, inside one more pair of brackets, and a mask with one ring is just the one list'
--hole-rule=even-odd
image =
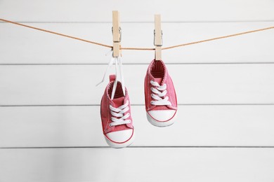
{"label": "bottommost white wooden plank, below both hanging sneakers", "polygon": [[273,148],[2,149],[0,180],[270,182],[273,152]]}

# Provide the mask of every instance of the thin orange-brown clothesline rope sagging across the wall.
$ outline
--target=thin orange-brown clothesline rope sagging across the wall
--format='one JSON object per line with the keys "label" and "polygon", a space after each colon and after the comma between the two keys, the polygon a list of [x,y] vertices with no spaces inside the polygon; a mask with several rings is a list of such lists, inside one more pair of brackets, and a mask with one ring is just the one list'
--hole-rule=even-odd
{"label": "thin orange-brown clothesline rope sagging across the wall", "polygon": [[[13,25],[20,25],[22,27],[27,27],[27,28],[30,28],[30,29],[36,29],[36,30],[39,30],[39,31],[44,31],[44,32],[47,32],[47,33],[50,33],[50,34],[56,34],[58,36],[64,36],[64,37],[67,37],[67,38],[72,38],[72,39],[75,39],[75,40],[78,40],[78,41],[84,41],[86,43],[92,43],[92,44],[100,45],[100,46],[103,46],[103,47],[106,47],[106,48],[112,48],[112,45],[106,45],[106,44],[103,44],[103,43],[89,41],[89,40],[86,40],[86,39],[83,39],[83,38],[78,38],[78,37],[75,37],[75,36],[60,34],[60,33],[55,32],[55,31],[40,29],[40,28],[37,28],[37,27],[32,27],[30,25],[24,25],[24,24],[21,24],[21,23],[18,23],[18,22],[10,21],[10,20],[5,20],[5,19],[1,19],[1,18],[0,18],[0,20],[3,21],[3,22],[11,23]],[[266,28],[263,28],[263,29],[254,29],[254,30],[251,30],[251,31],[243,31],[243,32],[240,32],[240,33],[237,33],[237,34],[230,34],[230,35],[227,35],[227,36],[218,36],[218,37],[214,37],[214,38],[209,38],[209,39],[205,39],[205,40],[202,40],[202,41],[194,41],[194,42],[190,42],[190,43],[183,43],[183,44],[179,44],[179,45],[173,45],[173,46],[162,48],[162,50],[167,50],[167,49],[171,49],[171,48],[178,48],[178,47],[183,47],[183,46],[186,46],[186,45],[193,45],[193,44],[197,44],[197,43],[204,43],[204,42],[208,42],[208,41],[215,41],[215,40],[218,40],[218,39],[229,38],[229,37],[233,37],[233,36],[241,36],[241,35],[244,35],[244,34],[251,34],[251,33],[254,33],[254,32],[265,31],[265,30],[268,30],[268,29],[274,29],[274,27],[266,27]],[[123,48],[123,47],[121,47],[120,49],[121,50],[155,50],[155,48]]]}

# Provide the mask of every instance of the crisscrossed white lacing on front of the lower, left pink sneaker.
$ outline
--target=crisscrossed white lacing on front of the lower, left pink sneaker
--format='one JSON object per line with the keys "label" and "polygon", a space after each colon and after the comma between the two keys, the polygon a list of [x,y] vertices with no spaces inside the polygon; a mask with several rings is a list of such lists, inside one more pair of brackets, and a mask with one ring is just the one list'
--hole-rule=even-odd
{"label": "crisscrossed white lacing on front of the lower, left pink sneaker", "polygon": [[[118,108],[110,105],[110,110],[112,116],[119,118],[111,117],[112,123],[110,123],[110,127],[131,123],[131,120],[126,120],[130,116],[130,113],[126,113],[126,111],[129,111],[129,101],[126,101],[126,104],[119,106]],[[124,113],[126,113],[126,115],[124,115]]]}

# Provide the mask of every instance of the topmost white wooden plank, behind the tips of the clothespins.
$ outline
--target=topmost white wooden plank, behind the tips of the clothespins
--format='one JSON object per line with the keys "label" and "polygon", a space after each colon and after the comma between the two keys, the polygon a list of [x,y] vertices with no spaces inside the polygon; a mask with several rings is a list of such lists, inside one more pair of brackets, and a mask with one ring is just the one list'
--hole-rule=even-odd
{"label": "topmost white wooden plank, behind the tips of the clothespins", "polygon": [[274,20],[273,1],[8,1],[2,0],[0,16],[18,21],[110,22],[112,10],[121,20],[153,21],[155,13],[163,21],[249,21]]}

